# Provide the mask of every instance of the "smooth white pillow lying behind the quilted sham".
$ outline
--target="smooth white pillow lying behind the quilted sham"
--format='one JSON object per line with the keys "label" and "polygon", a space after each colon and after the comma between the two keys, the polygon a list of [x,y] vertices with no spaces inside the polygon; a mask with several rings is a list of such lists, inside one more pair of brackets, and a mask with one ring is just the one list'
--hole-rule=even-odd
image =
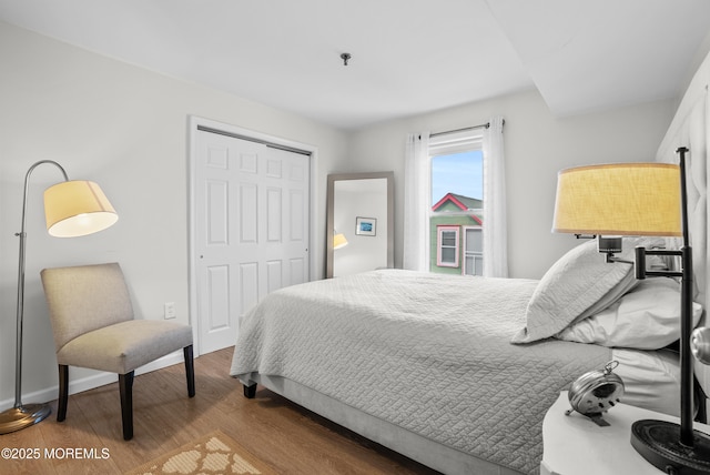
{"label": "smooth white pillow lying behind the quilted sham", "polygon": [[[693,327],[702,307],[692,305]],[[608,309],[577,322],[555,337],[602,346],[659,350],[680,338],[680,285],[672,279],[650,277]]]}

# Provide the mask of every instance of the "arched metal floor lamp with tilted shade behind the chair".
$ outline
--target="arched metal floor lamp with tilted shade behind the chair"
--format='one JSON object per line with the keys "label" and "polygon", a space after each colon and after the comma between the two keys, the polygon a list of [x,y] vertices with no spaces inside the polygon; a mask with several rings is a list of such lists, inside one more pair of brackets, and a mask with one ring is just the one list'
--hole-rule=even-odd
{"label": "arched metal floor lamp with tilted shade behind the chair", "polygon": [[44,215],[47,231],[57,238],[74,238],[104,230],[119,219],[113,206],[98,184],[90,181],[70,181],[64,169],[51,160],[34,163],[24,176],[22,199],[22,228],[20,238],[20,262],[18,266],[17,343],[14,366],[14,405],[0,413],[0,434],[19,431],[45,418],[51,408],[47,404],[22,404],[22,320],[24,314],[24,249],[27,241],[26,213],[30,175],[42,164],[55,165],[64,181],[44,191]]}

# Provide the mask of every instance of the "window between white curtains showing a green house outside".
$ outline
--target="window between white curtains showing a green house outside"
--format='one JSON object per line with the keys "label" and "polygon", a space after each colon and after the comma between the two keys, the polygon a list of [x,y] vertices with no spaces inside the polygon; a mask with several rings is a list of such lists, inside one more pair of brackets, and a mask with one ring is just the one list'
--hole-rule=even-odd
{"label": "window between white curtains showing a green house outside", "polygon": [[481,143],[480,130],[429,140],[432,272],[483,274]]}

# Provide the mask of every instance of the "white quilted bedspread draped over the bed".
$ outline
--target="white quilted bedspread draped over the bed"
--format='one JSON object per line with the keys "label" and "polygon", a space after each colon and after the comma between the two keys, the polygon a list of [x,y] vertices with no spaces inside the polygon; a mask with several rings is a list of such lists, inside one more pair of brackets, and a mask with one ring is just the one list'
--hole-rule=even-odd
{"label": "white quilted bedspread draped over the bed", "polygon": [[267,295],[241,322],[231,375],[278,375],[499,465],[537,473],[542,418],[609,348],[513,345],[537,281],[399,270]]}

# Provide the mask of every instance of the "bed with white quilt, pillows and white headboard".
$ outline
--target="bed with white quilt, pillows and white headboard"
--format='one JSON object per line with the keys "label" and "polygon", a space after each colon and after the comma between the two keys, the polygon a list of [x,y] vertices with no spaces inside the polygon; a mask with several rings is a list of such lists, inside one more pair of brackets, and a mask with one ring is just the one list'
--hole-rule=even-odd
{"label": "bed with white quilt, pillows and white headboard", "polygon": [[[709,70],[707,59],[658,155],[691,150],[696,322],[707,295]],[[625,253],[668,244],[625,239]],[[540,281],[373,271],[267,295],[241,321],[231,375],[247,397],[261,384],[443,473],[534,474],[548,407],[609,361],[620,363],[625,403],[678,413],[679,300],[674,281],[639,283],[591,241]],[[697,375],[707,392],[706,368]]]}

